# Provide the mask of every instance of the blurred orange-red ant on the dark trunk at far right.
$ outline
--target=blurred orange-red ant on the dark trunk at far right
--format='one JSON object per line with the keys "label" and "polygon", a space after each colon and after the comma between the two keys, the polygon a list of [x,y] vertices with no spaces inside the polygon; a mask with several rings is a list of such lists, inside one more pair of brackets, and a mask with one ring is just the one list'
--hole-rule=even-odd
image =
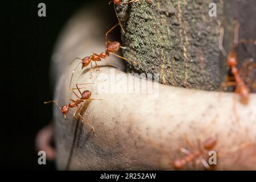
{"label": "blurred orange-red ant on the dark trunk at far right", "polygon": [[[235,92],[240,94],[242,104],[247,104],[248,101],[249,101],[250,89],[245,84],[245,81],[243,80],[243,77],[241,76],[240,71],[238,71],[238,68],[237,68],[238,59],[237,59],[236,49],[237,49],[237,46],[238,46],[238,43],[239,43],[239,29],[240,29],[240,23],[236,23],[236,26],[234,28],[233,48],[231,49],[231,51],[228,54],[228,53],[226,53],[224,47],[222,46],[223,36],[224,36],[224,28],[221,27],[220,40],[219,40],[218,47],[219,47],[221,53],[225,57],[227,57],[226,58],[226,63],[230,67],[230,71],[231,71],[231,73],[234,77],[234,80],[235,80],[235,82],[228,82],[227,84],[222,83],[221,85],[222,86],[224,86],[224,85],[236,86]],[[253,44],[255,44],[256,41],[251,41],[251,40],[247,41],[245,39],[242,39],[241,42],[242,43],[253,43]]]}

